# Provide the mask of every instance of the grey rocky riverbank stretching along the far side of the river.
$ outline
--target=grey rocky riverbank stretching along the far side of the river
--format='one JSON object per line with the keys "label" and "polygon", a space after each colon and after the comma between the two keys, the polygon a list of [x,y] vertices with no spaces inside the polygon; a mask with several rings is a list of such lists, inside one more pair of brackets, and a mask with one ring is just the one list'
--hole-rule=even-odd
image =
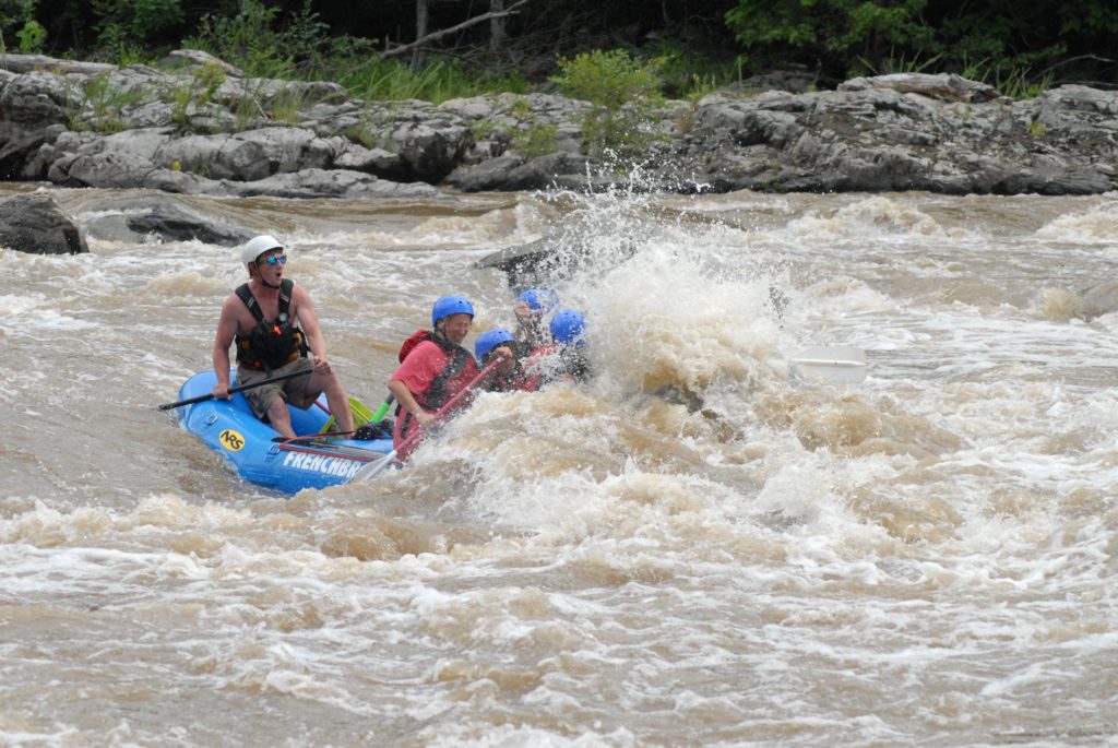
{"label": "grey rocky riverbank stretching along the far side of the river", "polygon": [[[0,58],[0,179],[276,197],[425,197],[446,189],[600,189],[580,153],[590,104],[547,94],[357,101],[337,84],[249,78],[178,53],[154,69]],[[547,127],[550,152],[518,152]],[[737,87],[669,102],[642,189],[1086,195],[1118,188],[1118,93],[1013,101],[957,76],[836,91]],[[539,150],[538,143],[536,151]]]}

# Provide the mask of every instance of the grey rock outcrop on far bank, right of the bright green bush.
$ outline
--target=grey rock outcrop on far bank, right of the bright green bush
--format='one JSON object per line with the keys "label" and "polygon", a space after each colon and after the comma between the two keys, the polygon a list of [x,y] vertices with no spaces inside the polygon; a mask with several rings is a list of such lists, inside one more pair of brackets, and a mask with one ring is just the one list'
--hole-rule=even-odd
{"label": "grey rock outcrop on far bank, right of the bright green bush", "polygon": [[1064,86],[1033,101],[987,102],[985,88],[951,81],[918,93],[908,78],[882,78],[853,89],[702,100],[661,173],[690,168],[695,189],[713,191],[1086,195],[1118,187],[1118,93]]}

